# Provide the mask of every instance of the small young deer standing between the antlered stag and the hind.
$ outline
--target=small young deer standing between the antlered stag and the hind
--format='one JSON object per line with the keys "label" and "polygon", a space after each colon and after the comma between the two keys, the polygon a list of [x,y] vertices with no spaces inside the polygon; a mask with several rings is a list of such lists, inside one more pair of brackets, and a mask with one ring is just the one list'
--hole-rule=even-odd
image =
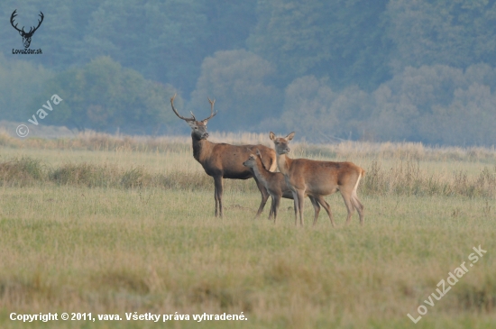
{"label": "small young deer standing between the antlered stag and the hind", "polygon": [[[286,184],[286,179],[284,175],[280,172],[271,172],[265,168],[262,162],[262,154],[259,150],[257,150],[257,155],[250,154],[250,158],[243,162],[243,166],[251,168],[253,170],[253,175],[259,182],[262,182],[263,187],[267,189],[269,194],[272,197],[271,203],[271,213],[269,214],[269,219],[271,219],[272,215],[274,216],[274,223],[276,223],[277,213],[280,205],[280,198],[288,198],[294,200],[293,193],[291,189]],[[331,208],[324,200],[322,196],[308,196],[312,205],[315,209],[315,217],[314,222],[317,222],[318,213],[320,212],[320,206],[324,206],[327,214],[330,214]],[[295,206],[295,215],[296,215],[296,206]]]}

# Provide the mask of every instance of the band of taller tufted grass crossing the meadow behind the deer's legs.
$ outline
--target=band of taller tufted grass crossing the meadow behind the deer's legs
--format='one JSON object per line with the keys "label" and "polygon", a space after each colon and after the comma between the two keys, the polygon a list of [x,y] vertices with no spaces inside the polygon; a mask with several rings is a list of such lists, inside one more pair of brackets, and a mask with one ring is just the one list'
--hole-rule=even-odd
{"label": "band of taller tufted grass crossing the meadow behind the deer's legs", "polygon": [[[295,148],[304,153],[305,149]],[[471,177],[463,169],[452,173],[427,172],[419,160],[396,160],[387,168],[373,159],[361,183],[360,193],[369,196],[496,196],[496,166],[484,167]],[[252,181],[249,179],[248,181]],[[203,171],[170,169],[153,173],[145,166],[121,168],[109,163],[63,163],[58,168],[29,157],[0,162],[0,185],[26,186],[51,183],[60,186],[210,190],[213,179]],[[225,179],[225,191],[256,192],[256,185]]]}

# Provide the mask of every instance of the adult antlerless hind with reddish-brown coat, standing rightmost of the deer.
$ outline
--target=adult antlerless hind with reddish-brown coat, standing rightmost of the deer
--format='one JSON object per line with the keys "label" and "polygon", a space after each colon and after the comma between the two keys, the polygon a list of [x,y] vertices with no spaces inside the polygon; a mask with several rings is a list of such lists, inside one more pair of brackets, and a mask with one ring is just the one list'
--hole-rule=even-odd
{"label": "adult antlerless hind with reddish-brown coat, standing rightmost of the deer", "polygon": [[[363,205],[356,195],[356,188],[360,179],[365,175],[365,170],[352,162],[331,162],[308,159],[290,159],[288,157],[288,143],[295,133],[289,133],[285,138],[278,138],[270,133],[271,141],[277,154],[277,165],[286,178],[295,198],[296,213],[299,213],[299,224],[303,225],[304,196],[328,196],[339,190],[343,196],[344,204],[348,209],[346,224],[350,224],[354,208],[360,215],[360,224],[363,224]],[[295,213],[295,224],[298,216]],[[333,216],[327,213],[331,224],[335,226]],[[316,219],[314,219],[314,225]]]}

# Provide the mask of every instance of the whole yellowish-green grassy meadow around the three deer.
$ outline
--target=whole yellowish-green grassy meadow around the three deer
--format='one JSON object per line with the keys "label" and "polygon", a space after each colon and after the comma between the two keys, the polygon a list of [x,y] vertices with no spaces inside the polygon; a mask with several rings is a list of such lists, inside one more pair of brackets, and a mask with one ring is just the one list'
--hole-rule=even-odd
{"label": "whole yellowish-green grassy meadow around the three deer", "polygon": [[[214,133],[216,142],[262,142]],[[344,225],[339,194],[296,227],[253,219],[253,179],[225,181],[225,217],[186,137],[0,133],[1,328],[494,328],[496,150],[418,143],[295,143],[292,156],[351,160],[365,224]],[[483,254],[468,259],[473,247]],[[468,271],[440,300],[437,283]],[[469,267],[472,263],[473,266]],[[446,283],[446,286],[449,286]],[[436,293],[436,295],[438,295]],[[414,324],[418,306],[427,314]],[[12,321],[11,313],[120,315],[121,321]],[[127,321],[189,315],[189,321]],[[242,314],[245,321],[194,321]]]}

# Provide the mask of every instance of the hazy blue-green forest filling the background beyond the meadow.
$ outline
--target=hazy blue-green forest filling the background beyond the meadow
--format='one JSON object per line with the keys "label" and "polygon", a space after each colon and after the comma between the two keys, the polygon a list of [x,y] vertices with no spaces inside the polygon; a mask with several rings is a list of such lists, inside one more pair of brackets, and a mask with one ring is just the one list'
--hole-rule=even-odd
{"label": "hazy blue-green forest filling the background beyond the meadow", "polygon": [[[30,49],[13,54],[44,18]],[[5,0],[0,120],[100,132],[297,132],[496,144],[496,0]]]}

